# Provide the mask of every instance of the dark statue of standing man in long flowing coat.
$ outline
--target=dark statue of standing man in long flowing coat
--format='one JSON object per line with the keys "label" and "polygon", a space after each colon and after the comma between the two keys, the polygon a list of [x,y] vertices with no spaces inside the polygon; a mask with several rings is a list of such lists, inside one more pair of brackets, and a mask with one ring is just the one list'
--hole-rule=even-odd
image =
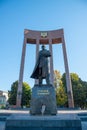
{"label": "dark statue of standing man in long flowing coat", "polygon": [[46,50],[45,46],[42,45],[42,50],[39,51],[36,65],[31,75],[31,78],[39,79],[39,84],[42,84],[43,79],[46,79],[46,83],[50,84],[49,62],[48,62],[48,57],[50,56],[51,56],[50,51]]}

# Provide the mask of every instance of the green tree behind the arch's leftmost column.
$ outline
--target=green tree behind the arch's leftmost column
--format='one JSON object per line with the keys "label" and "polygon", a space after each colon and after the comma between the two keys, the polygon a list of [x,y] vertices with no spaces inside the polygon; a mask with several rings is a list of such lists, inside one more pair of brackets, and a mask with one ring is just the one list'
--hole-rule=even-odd
{"label": "green tree behind the arch's leftmost column", "polygon": [[[16,105],[17,88],[18,88],[18,81],[15,81],[11,85],[11,90],[8,91],[8,94],[9,94],[8,102],[9,102],[10,105]],[[31,88],[26,82],[23,82],[23,84],[22,84],[22,103],[21,103],[21,106],[29,107],[30,99],[31,99]]]}

